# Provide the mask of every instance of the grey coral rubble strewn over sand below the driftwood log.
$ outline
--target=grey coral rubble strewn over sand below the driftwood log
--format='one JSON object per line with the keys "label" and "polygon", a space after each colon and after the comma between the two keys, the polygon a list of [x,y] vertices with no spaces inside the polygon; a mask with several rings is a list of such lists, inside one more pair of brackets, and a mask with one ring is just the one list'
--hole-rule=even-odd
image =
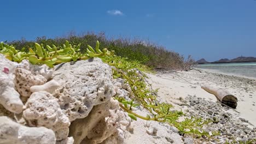
{"label": "grey coral rubble strewn over sand below the driftwood log", "polygon": [[[215,137],[219,140],[219,143],[255,139],[256,128],[249,128],[248,121],[244,119],[234,118],[229,112],[226,112],[227,108],[221,104],[196,96],[189,96],[185,100],[190,104],[187,116],[211,119],[212,122],[205,125],[204,129],[207,132],[219,131],[220,135]],[[213,141],[213,143],[217,142],[214,139],[210,139],[210,141]]]}

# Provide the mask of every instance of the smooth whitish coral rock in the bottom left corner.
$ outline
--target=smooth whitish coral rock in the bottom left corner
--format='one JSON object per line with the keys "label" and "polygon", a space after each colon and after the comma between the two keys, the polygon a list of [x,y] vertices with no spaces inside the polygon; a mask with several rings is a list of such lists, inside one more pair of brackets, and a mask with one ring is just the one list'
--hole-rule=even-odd
{"label": "smooth whitish coral rock in the bottom left corner", "polygon": [[8,144],[55,144],[56,139],[53,130],[39,127],[30,128],[10,118],[0,117],[0,143]]}

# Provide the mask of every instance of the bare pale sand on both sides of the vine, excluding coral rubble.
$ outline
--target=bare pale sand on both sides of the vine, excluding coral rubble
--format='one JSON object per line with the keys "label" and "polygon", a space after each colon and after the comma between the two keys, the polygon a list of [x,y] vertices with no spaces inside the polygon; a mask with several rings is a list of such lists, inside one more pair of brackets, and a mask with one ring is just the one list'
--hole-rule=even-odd
{"label": "bare pale sand on both sides of the vine, excluding coral rubble", "polygon": [[[231,113],[235,118],[233,119],[234,121],[241,117],[247,119],[250,123],[256,126],[256,80],[208,73],[206,71],[199,73],[199,71],[196,70],[148,74],[148,76],[148,81],[149,83],[152,83],[152,87],[154,89],[159,88],[159,100],[162,102],[167,101],[174,105],[174,109],[182,109],[183,112],[186,112],[187,109],[191,109],[191,107],[186,106],[188,101],[180,100],[181,98],[191,98],[191,96],[195,95],[196,97],[212,101],[213,104],[216,103],[216,97],[201,88],[203,83],[226,88],[238,98],[238,106],[236,110],[240,113],[230,109],[223,109],[224,113],[225,111]],[[213,108],[218,109],[217,107]],[[149,114],[146,110],[142,109],[142,107],[135,110],[135,112],[142,116]],[[240,123],[241,121],[237,120],[237,122]],[[249,125],[246,122],[243,123],[248,125],[248,127],[253,128],[253,125]],[[125,143],[193,143],[193,140],[189,137],[179,136],[177,129],[168,124],[154,121],[148,122],[138,118],[137,121],[132,122],[132,126],[131,133],[126,137]],[[236,128],[240,129],[239,127]],[[149,134],[150,131],[154,131],[154,129],[156,129],[156,134]],[[187,142],[184,142],[182,139]],[[196,140],[194,140],[194,142],[195,141]],[[199,143],[201,143],[201,141],[199,141]]]}

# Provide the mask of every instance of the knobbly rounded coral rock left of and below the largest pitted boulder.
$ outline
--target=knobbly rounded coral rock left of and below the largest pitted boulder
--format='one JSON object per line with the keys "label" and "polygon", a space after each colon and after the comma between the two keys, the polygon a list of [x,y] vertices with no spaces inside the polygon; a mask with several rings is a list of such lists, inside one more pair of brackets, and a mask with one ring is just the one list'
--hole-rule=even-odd
{"label": "knobbly rounded coral rock left of and below the largest pitted boulder", "polygon": [[68,136],[70,125],[68,117],[60,109],[58,100],[48,92],[34,92],[27,100],[23,117],[32,127],[46,127],[54,130],[56,139],[63,140]]}

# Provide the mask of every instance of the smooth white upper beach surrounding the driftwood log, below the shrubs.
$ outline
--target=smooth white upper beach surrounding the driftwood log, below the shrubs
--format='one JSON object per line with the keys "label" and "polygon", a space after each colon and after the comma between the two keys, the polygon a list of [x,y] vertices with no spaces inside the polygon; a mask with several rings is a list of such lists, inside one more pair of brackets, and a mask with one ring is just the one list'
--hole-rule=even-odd
{"label": "smooth white upper beach surrounding the driftwood log, below the shrubs", "polygon": [[[214,95],[207,93],[201,85],[209,85],[228,89],[238,99],[236,110],[228,110],[237,118],[245,118],[256,126],[256,80],[236,76],[228,76],[207,71],[191,70],[176,71],[172,73],[149,74],[149,82],[153,88],[159,88],[158,95],[174,105],[181,103],[179,97],[185,98],[188,95],[206,98],[206,100],[217,101]],[[185,109],[184,106],[176,105],[177,109]]]}

